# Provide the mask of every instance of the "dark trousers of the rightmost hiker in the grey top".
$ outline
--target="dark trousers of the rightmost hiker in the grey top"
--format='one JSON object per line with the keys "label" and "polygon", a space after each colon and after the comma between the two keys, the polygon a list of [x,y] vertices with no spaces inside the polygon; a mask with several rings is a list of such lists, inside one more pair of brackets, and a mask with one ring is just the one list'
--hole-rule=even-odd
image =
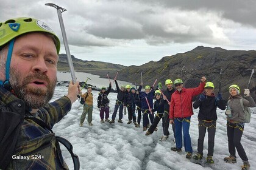
{"label": "dark trousers of the rightmost hiker in the grey top", "polygon": [[244,123],[227,122],[227,139],[229,140],[229,154],[236,158],[235,149],[243,161],[247,161],[247,155],[241,144]]}

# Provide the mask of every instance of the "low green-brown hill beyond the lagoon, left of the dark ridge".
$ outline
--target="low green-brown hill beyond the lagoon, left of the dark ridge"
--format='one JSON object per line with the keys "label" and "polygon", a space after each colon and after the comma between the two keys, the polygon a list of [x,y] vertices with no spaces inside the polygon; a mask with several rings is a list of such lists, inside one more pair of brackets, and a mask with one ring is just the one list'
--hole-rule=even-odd
{"label": "low green-brown hill beyond the lagoon, left of the dark ridge", "polygon": [[[115,74],[117,71],[124,69],[126,67],[121,64],[105,63],[101,61],[80,60],[78,58],[75,58],[74,55],[71,55],[71,58],[73,61],[74,69],[77,72],[93,73],[94,75],[100,75],[101,77],[104,77],[106,73]],[[68,59],[66,57],[66,54],[59,55],[57,69],[59,71],[69,71]]]}

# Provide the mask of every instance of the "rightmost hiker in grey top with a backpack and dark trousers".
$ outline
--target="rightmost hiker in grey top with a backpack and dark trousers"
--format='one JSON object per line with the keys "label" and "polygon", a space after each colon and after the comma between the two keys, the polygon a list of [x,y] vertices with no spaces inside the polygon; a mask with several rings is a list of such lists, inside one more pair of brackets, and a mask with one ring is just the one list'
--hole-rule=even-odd
{"label": "rightmost hiker in grey top with a backpack and dark trousers", "polygon": [[[236,151],[243,160],[242,169],[249,169],[250,164],[241,144],[241,137],[244,131],[244,107],[256,107],[255,101],[250,95],[249,89],[244,89],[244,98],[241,96],[240,87],[237,84],[229,86],[229,101],[227,101],[227,138],[229,141],[229,157],[225,157],[224,161],[236,163]],[[229,108],[229,109],[228,109]]]}

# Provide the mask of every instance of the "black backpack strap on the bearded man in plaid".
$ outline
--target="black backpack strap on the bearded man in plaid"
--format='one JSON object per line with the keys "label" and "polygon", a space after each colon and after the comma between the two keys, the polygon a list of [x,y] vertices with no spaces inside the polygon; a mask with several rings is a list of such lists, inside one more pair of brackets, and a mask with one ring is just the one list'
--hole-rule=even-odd
{"label": "black backpack strap on the bearded man in plaid", "polygon": [[[52,132],[52,129],[48,126],[48,124],[44,123],[44,121],[35,118],[33,116],[28,116],[26,115],[25,118],[30,119],[32,121],[34,121],[35,123],[37,123],[38,125],[40,125],[41,127],[44,127],[44,129],[48,129],[50,132]],[[53,132],[52,132],[53,133]],[[65,166],[63,165],[63,157],[62,157],[62,151],[60,149],[60,143],[63,144],[63,146],[65,146],[66,149],[68,149],[68,152],[71,154],[71,157],[73,159],[73,163],[74,163],[74,169],[75,170],[79,170],[80,168],[80,163],[79,163],[79,158],[76,154],[73,153],[73,146],[71,143],[69,143],[68,140],[66,140],[65,138],[62,137],[55,137],[57,142],[56,142],[56,148],[57,148],[57,155],[60,159],[60,163],[62,164],[62,168],[66,169]]]}

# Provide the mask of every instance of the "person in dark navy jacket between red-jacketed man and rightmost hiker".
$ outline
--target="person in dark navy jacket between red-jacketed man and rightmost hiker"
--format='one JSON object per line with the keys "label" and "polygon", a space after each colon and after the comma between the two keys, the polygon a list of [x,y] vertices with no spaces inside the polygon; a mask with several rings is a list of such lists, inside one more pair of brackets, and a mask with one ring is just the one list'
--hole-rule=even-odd
{"label": "person in dark navy jacket between red-jacketed man and rightmost hiker", "polygon": [[198,113],[198,131],[199,137],[197,140],[197,155],[194,155],[195,160],[201,160],[204,150],[204,137],[206,131],[208,132],[208,154],[206,157],[207,163],[214,163],[213,150],[215,144],[217,107],[221,110],[226,109],[226,103],[222,100],[221,94],[217,97],[214,93],[214,84],[210,81],[205,83],[204,92],[197,97],[193,104],[194,109],[199,107]]}

